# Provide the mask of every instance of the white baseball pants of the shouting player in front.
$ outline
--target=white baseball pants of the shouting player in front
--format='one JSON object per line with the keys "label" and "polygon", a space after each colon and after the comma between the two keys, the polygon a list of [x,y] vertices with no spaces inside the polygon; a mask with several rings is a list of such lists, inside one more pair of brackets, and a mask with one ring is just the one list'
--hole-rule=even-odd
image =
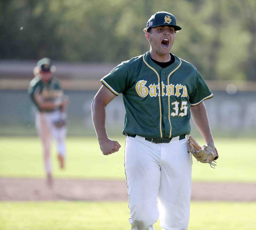
{"label": "white baseball pants of the shouting player in front", "polygon": [[132,230],[154,230],[159,216],[163,230],[188,228],[192,159],[186,138],[155,144],[127,137],[124,166]]}

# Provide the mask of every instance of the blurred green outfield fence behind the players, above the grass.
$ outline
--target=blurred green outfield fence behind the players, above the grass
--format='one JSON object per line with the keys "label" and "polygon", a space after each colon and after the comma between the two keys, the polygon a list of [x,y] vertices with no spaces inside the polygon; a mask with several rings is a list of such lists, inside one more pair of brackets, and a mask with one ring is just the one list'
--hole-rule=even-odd
{"label": "blurred green outfield fence behind the players, above the grass", "polygon": [[[68,135],[94,135],[91,103],[97,91],[66,90],[68,106]],[[251,136],[256,127],[256,93],[213,91],[214,97],[206,100],[212,132],[230,137]],[[0,90],[0,135],[35,135],[35,107],[27,90]],[[107,130],[120,134],[124,122],[122,95],[107,106]],[[192,132],[196,132],[191,121]]]}

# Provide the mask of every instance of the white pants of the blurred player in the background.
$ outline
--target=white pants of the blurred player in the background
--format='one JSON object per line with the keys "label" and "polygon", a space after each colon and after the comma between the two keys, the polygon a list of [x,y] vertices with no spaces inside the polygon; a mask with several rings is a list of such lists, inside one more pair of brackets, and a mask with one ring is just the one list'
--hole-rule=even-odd
{"label": "white pants of the blurred player in the background", "polygon": [[61,128],[54,126],[54,121],[57,121],[61,118],[63,114],[59,111],[53,112],[36,112],[36,129],[41,138],[43,145],[43,154],[44,154],[44,168],[46,173],[52,172],[52,163],[51,163],[51,143],[52,136],[56,140],[57,152],[63,157],[66,156],[66,134],[67,127],[63,126]]}

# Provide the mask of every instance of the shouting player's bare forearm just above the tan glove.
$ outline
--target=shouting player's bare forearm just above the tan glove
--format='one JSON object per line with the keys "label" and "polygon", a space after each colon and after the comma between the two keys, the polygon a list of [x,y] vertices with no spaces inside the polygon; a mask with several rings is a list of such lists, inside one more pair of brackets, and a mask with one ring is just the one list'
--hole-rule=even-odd
{"label": "shouting player's bare forearm just above the tan glove", "polygon": [[190,111],[192,119],[196,127],[204,137],[205,142],[207,144],[214,145],[210,123],[204,103],[202,102],[196,106],[191,107]]}

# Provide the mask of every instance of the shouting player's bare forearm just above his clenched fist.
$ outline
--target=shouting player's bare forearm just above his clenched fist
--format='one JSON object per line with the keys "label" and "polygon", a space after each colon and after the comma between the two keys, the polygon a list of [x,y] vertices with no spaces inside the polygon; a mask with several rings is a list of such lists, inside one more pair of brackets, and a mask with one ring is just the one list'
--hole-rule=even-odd
{"label": "shouting player's bare forearm just above his clenched fist", "polygon": [[106,106],[95,97],[92,101],[92,121],[99,143],[108,139],[106,132]]}

